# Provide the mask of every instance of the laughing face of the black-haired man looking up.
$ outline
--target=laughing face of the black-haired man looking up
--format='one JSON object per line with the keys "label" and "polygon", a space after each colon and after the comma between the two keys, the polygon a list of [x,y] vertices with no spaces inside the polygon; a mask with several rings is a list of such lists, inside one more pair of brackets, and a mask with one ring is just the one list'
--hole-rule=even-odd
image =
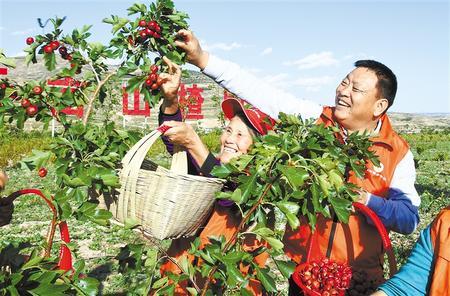
{"label": "laughing face of the black-haired man looking up", "polygon": [[336,88],[334,115],[348,131],[375,128],[380,100],[377,82],[372,70],[360,67],[350,72]]}

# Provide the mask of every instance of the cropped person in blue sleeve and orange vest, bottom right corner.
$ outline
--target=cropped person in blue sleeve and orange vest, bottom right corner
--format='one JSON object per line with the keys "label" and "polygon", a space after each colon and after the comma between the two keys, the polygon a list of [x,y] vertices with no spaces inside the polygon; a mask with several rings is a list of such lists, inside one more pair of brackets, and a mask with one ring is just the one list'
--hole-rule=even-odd
{"label": "cropped person in blue sleeve and orange vest, bottom right corner", "polygon": [[425,228],[408,261],[375,296],[450,295],[450,206]]}

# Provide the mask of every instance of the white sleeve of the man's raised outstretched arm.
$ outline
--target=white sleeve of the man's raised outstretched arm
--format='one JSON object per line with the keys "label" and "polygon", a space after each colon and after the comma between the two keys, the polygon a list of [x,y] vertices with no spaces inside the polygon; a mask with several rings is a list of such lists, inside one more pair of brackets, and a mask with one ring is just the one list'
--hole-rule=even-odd
{"label": "white sleeve of the man's raised outstretched arm", "polygon": [[278,113],[284,112],[300,114],[303,119],[316,119],[322,113],[323,108],[319,104],[298,99],[278,90],[246,72],[239,65],[221,60],[211,54],[203,73],[272,118],[278,118]]}

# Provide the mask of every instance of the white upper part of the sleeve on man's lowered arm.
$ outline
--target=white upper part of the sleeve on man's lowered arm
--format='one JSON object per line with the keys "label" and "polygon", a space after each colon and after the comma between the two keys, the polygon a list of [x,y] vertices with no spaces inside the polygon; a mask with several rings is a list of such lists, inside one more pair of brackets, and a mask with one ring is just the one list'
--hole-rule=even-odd
{"label": "white upper part of the sleeve on man's lowered arm", "polygon": [[411,200],[413,206],[420,206],[420,196],[414,187],[416,181],[416,168],[414,166],[414,156],[411,150],[398,163],[392,177],[390,188],[398,189]]}

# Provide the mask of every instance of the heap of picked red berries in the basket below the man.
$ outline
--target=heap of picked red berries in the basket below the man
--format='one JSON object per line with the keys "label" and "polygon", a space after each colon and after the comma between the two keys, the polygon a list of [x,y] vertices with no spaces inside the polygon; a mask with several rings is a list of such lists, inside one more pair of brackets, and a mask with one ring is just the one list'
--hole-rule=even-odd
{"label": "heap of picked red berries in the basket below the man", "polygon": [[344,295],[352,279],[349,266],[329,258],[311,261],[297,272],[306,289],[313,291],[311,294],[321,296]]}

